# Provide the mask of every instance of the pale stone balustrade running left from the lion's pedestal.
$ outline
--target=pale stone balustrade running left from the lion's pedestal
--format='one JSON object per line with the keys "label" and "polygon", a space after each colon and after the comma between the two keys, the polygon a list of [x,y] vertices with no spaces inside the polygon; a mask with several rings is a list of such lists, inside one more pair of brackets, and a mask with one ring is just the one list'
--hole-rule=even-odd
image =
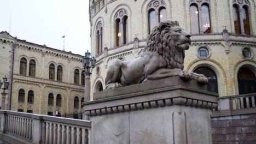
{"label": "pale stone balustrade running left from the lion's pedestal", "polygon": [[91,122],[0,110],[0,137],[8,143],[91,143]]}

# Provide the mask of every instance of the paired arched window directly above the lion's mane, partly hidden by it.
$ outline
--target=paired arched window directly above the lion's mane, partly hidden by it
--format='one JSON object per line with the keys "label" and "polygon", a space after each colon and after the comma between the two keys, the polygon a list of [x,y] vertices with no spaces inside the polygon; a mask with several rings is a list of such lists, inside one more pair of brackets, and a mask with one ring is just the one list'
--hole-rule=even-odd
{"label": "paired arched window directly above the lion's mane, partly hidden by it", "polygon": [[166,4],[162,0],[154,0],[148,4],[149,33],[159,22],[166,21]]}

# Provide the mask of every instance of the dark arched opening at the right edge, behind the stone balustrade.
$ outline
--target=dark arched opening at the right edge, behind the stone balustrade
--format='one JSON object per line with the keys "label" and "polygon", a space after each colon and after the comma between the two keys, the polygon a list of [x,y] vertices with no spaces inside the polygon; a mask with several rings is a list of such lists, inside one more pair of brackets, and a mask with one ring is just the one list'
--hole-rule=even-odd
{"label": "dark arched opening at the right edge, behind the stone balustrade", "polygon": [[256,93],[256,79],[254,73],[243,67],[237,74],[239,94]]}

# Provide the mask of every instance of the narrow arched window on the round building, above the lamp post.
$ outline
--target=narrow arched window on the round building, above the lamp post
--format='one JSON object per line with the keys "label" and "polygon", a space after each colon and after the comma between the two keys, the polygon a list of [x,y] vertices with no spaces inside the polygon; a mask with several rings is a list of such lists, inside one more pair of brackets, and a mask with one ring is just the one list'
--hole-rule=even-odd
{"label": "narrow arched window on the round building, above the lamp post", "polygon": [[102,49],[103,49],[103,26],[102,26],[102,22],[98,22],[97,24],[97,28],[96,28],[96,54],[99,55],[100,53],[102,53]]}

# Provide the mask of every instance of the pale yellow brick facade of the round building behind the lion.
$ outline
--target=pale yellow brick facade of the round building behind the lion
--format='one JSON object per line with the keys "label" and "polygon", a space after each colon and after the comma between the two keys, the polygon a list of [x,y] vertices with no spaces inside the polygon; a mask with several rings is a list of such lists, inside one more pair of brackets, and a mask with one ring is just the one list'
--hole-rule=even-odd
{"label": "pale yellow brick facade of the round building behind the lion", "polygon": [[[91,78],[92,93],[98,91],[98,85],[103,85],[108,65],[113,59],[124,60],[138,57],[143,52],[148,35],[148,4],[152,0],[90,0],[91,22],[91,52],[96,53],[96,26],[103,23],[103,52],[97,56],[97,68],[93,70]],[[177,20],[185,31],[191,32],[190,1],[162,0],[166,4],[167,20]],[[200,2],[200,1],[199,1]],[[220,97],[238,95],[237,73],[242,67],[249,68],[256,75],[256,1],[242,1],[249,5],[249,20],[251,35],[235,34],[233,0],[209,0],[210,2],[210,34],[191,34],[192,44],[185,52],[184,70],[194,71],[199,67],[210,68],[216,73],[218,92]],[[237,3],[240,3],[237,1]],[[97,9],[95,11],[95,8]],[[128,15],[127,43],[115,46],[114,15],[120,9],[125,9]],[[228,32],[223,34],[224,29]],[[228,35],[228,39],[226,39]],[[136,38],[138,40],[136,40]],[[197,51],[200,47],[207,47],[210,56],[200,58]],[[242,50],[247,48],[251,58],[245,58]],[[100,70],[100,74],[97,71]],[[100,84],[98,84],[100,83]]]}

